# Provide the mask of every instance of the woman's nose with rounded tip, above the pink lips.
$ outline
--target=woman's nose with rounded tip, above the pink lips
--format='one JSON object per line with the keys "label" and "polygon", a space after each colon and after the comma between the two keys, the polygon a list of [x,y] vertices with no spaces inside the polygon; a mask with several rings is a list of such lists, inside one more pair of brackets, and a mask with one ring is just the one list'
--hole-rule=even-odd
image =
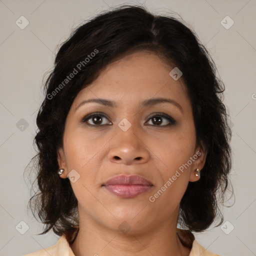
{"label": "woman's nose with rounded tip, above the pink lips", "polygon": [[126,165],[140,164],[148,161],[149,151],[139,134],[134,133],[132,128],[126,131],[121,129],[111,140],[108,158],[111,162]]}

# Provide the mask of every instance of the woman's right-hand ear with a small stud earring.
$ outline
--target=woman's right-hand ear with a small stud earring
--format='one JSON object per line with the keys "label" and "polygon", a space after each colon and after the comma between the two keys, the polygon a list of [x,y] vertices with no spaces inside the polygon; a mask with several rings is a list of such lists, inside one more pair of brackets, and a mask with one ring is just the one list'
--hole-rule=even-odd
{"label": "woman's right-hand ear with a small stud earring", "polygon": [[200,178],[199,176],[195,176],[194,170],[198,168],[200,171],[203,171],[202,168],[206,160],[206,155],[207,150],[203,145],[196,147],[194,154],[192,156],[194,161],[191,164],[189,181],[194,182]]}

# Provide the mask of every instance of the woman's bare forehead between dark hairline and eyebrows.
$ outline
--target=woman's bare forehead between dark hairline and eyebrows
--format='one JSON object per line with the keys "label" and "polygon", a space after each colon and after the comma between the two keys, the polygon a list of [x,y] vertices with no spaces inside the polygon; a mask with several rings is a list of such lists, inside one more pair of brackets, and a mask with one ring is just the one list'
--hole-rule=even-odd
{"label": "woman's bare forehead between dark hairline and eyebrows", "polygon": [[82,89],[74,100],[108,98],[121,106],[152,97],[169,97],[187,101],[188,95],[181,78],[174,80],[173,69],[156,54],[148,51],[134,52],[114,61],[101,70],[97,79]]}

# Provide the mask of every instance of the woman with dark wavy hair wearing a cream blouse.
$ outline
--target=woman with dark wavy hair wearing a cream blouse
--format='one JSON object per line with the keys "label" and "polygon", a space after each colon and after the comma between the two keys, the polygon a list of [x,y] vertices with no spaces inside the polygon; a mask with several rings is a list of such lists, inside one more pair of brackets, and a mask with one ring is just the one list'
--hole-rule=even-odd
{"label": "woman with dark wavy hair wearing a cream blouse", "polygon": [[192,234],[223,222],[229,183],[216,73],[173,17],[124,5],[80,25],[36,118],[40,192],[29,206],[40,234],[60,238],[27,255],[217,255]]}

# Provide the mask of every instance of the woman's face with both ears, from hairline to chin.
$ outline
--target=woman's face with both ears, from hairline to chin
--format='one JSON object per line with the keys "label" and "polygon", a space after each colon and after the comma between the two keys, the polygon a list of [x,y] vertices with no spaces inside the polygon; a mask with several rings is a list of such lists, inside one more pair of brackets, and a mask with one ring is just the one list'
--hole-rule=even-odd
{"label": "woman's face with both ears, from hairline to chin", "polygon": [[[74,99],[58,163],[65,169],[62,178],[71,171],[79,219],[87,224],[130,228],[134,233],[160,223],[176,225],[179,202],[188,181],[198,180],[194,169],[203,167],[205,153],[195,147],[192,108],[182,76],[173,79],[171,70],[153,53],[132,53],[109,64]],[[143,104],[156,98],[172,103]],[[82,103],[89,99],[107,102]],[[94,116],[85,118],[91,113]],[[152,185],[126,197],[106,189],[103,184],[120,174],[139,175]]]}

